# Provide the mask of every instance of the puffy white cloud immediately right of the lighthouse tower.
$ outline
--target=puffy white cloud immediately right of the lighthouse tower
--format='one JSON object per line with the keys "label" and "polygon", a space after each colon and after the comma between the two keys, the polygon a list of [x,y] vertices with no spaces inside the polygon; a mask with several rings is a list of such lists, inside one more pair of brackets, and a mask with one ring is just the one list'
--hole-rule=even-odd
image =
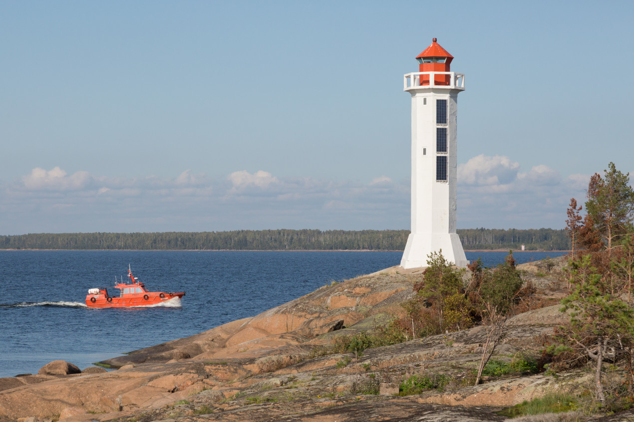
{"label": "puffy white cloud immediately right of the lighthouse tower", "polygon": [[508,184],[517,177],[519,163],[508,157],[488,157],[484,154],[458,165],[458,184]]}

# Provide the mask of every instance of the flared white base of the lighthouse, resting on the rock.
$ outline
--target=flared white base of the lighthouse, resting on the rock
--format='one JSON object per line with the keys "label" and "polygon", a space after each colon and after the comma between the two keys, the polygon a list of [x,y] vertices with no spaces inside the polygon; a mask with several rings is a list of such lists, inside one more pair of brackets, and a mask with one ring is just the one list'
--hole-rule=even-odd
{"label": "flared white base of the lighthouse, resting on the rock", "polygon": [[462,243],[456,233],[411,233],[407,238],[401,267],[428,267],[427,255],[442,250],[444,259],[453,262],[456,267],[464,268],[469,264]]}

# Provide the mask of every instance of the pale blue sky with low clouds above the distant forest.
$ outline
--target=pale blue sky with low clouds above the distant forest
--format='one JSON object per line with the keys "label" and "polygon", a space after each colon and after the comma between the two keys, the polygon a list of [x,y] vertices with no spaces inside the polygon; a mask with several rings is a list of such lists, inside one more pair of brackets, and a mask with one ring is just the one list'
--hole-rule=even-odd
{"label": "pale blue sky with low clouds above the distant forest", "polygon": [[630,1],[0,0],[0,234],[409,229],[411,97],[465,74],[458,228],[634,174]]}

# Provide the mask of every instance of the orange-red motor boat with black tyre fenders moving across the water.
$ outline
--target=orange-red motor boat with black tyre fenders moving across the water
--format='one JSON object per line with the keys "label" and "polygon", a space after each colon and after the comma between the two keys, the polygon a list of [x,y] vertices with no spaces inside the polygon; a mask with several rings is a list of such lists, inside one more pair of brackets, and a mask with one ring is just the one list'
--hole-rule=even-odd
{"label": "orange-red motor boat with black tyre fenders moving across the water", "polygon": [[185,295],[185,292],[174,293],[173,291],[148,291],[145,285],[137,277],[132,275],[132,270],[128,265],[127,276],[131,283],[117,283],[115,289],[119,289],[119,297],[108,295],[105,287],[89,289],[86,296],[86,305],[91,308],[127,308],[134,306],[157,305],[168,300],[177,299]]}

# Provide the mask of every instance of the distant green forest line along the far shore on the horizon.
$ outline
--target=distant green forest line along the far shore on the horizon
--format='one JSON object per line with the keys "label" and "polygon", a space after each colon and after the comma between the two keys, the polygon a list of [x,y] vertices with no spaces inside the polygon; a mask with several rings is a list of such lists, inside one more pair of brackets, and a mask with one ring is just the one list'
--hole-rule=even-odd
{"label": "distant green forest line along the far shore on the horizon", "polygon": [[[0,249],[403,250],[408,230],[236,230],[166,233],[34,233],[0,236]],[[465,249],[568,250],[563,229],[459,229]]]}

